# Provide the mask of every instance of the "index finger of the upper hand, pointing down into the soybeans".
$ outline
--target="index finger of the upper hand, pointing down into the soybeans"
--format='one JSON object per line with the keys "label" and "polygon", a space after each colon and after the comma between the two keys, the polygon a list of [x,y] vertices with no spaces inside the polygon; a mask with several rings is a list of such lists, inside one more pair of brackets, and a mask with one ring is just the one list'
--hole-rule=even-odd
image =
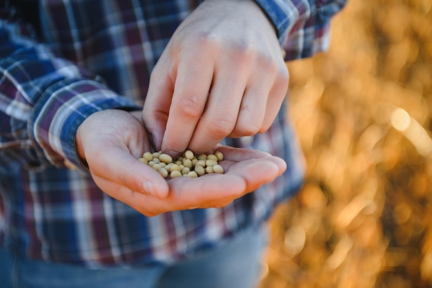
{"label": "index finger of the upper hand, pointing down into the soybeans", "polygon": [[[192,57],[193,56],[193,57]],[[176,155],[186,150],[202,116],[213,78],[211,55],[186,55],[178,67],[173,99],[161,150]]]}

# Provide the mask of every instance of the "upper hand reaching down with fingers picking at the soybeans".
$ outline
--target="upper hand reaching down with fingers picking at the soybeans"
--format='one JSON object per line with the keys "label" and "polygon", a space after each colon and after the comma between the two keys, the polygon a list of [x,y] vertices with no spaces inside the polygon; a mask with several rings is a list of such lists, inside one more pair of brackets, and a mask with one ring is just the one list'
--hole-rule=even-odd
{"label": "upper hand reaching down with fingers picking at the soybeans", "polygon": [[143,117],[157,149],[203,153],[266,131],[288,89],[275,29],[252,0],[206,0],[150,77]]}

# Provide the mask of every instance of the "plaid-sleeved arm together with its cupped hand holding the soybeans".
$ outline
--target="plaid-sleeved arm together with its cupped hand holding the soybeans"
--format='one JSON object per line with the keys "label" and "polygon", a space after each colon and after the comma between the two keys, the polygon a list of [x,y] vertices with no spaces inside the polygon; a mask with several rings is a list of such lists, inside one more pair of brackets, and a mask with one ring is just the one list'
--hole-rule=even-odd
{"label": "plaid-sleeved arm together with its cupped hand holding the soybeans", "polygon": [[20,31],[0,21],[0,162],[19,156],[64,168],[86,161],[102,191],[145,215],[220,207],[286,169],[266,153],[221,147],[224,175],[167,182],[137,160],[150,150],[141,111],[125,109],[137,106]]}

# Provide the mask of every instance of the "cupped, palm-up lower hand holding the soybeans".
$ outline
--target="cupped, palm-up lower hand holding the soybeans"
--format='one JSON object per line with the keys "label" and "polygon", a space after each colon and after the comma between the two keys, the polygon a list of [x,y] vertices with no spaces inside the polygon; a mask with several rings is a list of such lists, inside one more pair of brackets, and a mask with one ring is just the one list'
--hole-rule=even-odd
{"label": "cupped, palm-up lower hand holding the soybeans", "polygon": [[[223,207],[275,180],[284,160],[262,151],[218,146],[224,174],[165,180],[137,160],[150,151],[141,113],[107,110],[88,117],[77,131],[77,150],[99,188],[140,213]],[[113,121],[115,119],[115,121]]]}

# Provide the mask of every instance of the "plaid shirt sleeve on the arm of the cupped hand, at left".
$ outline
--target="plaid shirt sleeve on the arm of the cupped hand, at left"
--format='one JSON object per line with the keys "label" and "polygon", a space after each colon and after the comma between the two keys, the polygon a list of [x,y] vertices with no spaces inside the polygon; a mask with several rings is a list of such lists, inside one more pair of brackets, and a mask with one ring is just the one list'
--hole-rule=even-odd
{"label": "plaid shirt sleeve on the arm of the cupped hand, at left", "polygon": [[79,124],[103,109],[139,107],[24,36],[26,27],[0,19],[0,162],[80,167]]}

